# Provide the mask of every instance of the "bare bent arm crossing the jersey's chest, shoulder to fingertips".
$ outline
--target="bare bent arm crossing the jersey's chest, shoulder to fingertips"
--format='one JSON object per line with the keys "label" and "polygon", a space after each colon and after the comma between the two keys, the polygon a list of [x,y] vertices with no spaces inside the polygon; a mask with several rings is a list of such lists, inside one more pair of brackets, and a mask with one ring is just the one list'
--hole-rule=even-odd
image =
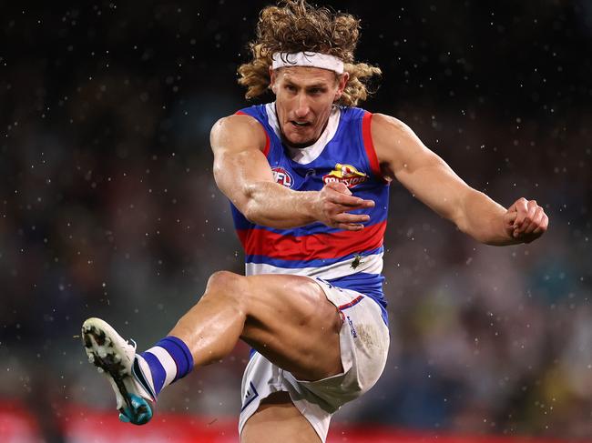
{"label": "bare bent arm crossing the jersey's chest, shoulder to fingertips", "polygon": [[266,135],[251,116],[227,116],[211,129],[214,178],[219,189],[252,223],[267,227],[301,227],[320,221],[330,227],[360,230],[366,215],[347,211],[373,202],[352,196],[343,184],[321,191],[293,191],[275,182],[263,155]]}

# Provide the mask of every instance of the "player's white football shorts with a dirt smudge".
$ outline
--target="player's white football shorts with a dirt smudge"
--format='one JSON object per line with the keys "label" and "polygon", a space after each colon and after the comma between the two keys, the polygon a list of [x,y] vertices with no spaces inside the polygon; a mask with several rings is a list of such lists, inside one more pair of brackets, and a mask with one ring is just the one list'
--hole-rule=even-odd
{"label": "player's white football shorts with a dirt smudge", "polygon": [[333,287],[320,278],[313,279],[341,313],[339,341],[343,372],[316,381],[298,380],[256,352],[242,377],[239,432],[262,399],[274,392],[286,391],[324,442],[332,414],[372,388],[383,373],[390,336],[379,305],[359,292]]}

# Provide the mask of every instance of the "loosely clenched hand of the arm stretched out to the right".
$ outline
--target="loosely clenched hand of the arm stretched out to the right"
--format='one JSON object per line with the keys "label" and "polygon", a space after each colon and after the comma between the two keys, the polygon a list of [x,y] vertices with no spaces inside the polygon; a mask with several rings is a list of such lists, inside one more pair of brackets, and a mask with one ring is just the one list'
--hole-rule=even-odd
{"label": "loosely clenched hand of the arm stretched out to the right", "polygon": [[505,232],[522,243],[530,243],[541,237],[549,225],[549,217],[536,200],[518,198],[504,216]]}

